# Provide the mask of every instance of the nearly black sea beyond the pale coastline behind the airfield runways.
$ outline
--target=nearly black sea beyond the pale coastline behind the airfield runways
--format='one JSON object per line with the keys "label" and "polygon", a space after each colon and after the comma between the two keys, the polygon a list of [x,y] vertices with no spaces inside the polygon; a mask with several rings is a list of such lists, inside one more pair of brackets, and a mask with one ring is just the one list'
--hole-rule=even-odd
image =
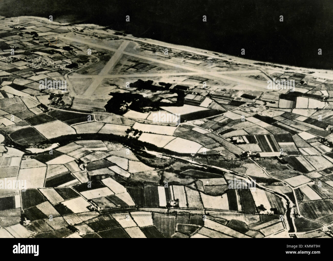
{"label": "nearly black sea beyond the pale coastline behind the airfield runways", "polygon": [[251,60],[333,67],[333,0],[0,0],[0,15],[52,15]]}

